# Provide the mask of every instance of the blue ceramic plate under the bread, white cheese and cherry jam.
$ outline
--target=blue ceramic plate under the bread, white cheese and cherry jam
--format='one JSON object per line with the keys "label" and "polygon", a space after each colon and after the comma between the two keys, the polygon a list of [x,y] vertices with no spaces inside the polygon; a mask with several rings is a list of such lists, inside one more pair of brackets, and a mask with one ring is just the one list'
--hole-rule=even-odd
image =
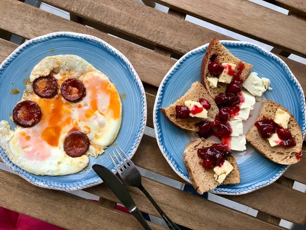
{"label": "blue ceramic plate under the bread, white cheese and cherry jam", "polygon": [[[272,91],[267,91],[264,98],[275,101],[292,112],[305,135],[305,98],[303,90],[284,61],[258,45],[241,41],[221,41],[236,57],[252,64],[253,72],[271,80]],[[195,81],[201,81],[200,66],[208,44],[196,48],[178,60],[164,77],[154,106],[154,127],[158,145],[172,169],[183,179],[190,182],[183,162],[185,146],[197,135],[182,130],[163,116],[160,107],[168,107],[177,98],[183,96]],[[251,111],[252,117],[244,124],[244,134],[256,119],[261,102],[257,102]],[[212,193],[240,195],[269,185],[280,177],[288,168],[266,159],[247,144],[247,150],[234,151],[241,182],[237,185],[219,186]]]}

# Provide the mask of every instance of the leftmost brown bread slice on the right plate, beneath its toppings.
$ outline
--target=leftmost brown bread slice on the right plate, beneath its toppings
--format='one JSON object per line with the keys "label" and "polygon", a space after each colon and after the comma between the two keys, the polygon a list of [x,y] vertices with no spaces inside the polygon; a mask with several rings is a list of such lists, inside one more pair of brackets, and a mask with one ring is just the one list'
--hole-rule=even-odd
{"label": "leftmost brown bread slice on the right plate, beneath its toppings", "polygon": [[214,101],[214,99],[210,96],[206,88],[199,81],[192,83],[190,89],[188,89],[188,91],[183,97],[177,99],[177,101],[169,105],[169,107],[161,108],[161,110],[164,116],[174,125],[177,125],[182,129],[198,131],[199,128],[196,127],[195,124],[198,123],[199,121],[202,121],[203,119],[202,118],[192,118],[192,117],[187,118],[187,119],[176,119],[175,118],[175,114],[176,114],[175,106],[185,105],[184,102],[187,100],[198,101],[201,98],[208,100],[209,103],[211,104],[210,109],[207,110],[208,111],[207,120],[214,121],[216,115],[219,112],[218,106],[216,102]]}

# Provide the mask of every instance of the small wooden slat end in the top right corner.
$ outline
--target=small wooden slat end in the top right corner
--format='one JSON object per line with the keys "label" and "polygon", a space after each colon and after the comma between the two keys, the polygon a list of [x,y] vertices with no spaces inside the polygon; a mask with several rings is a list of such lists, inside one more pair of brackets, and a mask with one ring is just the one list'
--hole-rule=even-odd
{"label": "small wooden slat end in the top right corner", "polygon": [[283,7],[292,12],[306,16],[306,1],[304,0],[264,0],[268,3]]}

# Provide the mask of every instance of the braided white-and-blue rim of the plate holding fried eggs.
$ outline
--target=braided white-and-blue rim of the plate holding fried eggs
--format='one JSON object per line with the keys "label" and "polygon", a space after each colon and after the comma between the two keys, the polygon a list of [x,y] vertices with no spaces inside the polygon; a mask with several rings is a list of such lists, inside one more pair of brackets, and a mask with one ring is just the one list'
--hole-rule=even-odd
{"label": "braided white-and-blue rim of the plate holding fried eggs", "polygon": [[[22,52],[22,50],[24,50],[25,48],[31,46],[32,44],[35,43],[39,43],[39,42],[43,42],[45,40],[49,40],[49,39],[53,39],[53,38],[57,38],[57,37],[71,37],[71,38],[78,38],[81,40],[92,40],[95,41],[101,45],[105,45],[105,47],[107,49],[109,49],[114,55],[116,55],[117,57],[119,57],[123,62],[125,62],[126,67],[128,67],[130,69],[130,72],[134,75],[136,83],[139,85],[141,94],[142,94],[142,114],[143,114],[143,118],[142,118],[142,124],[141,127],[139,128],[138,132],[138,137],[136,140],[136,144],[135,147],[132,151],[132,153],[130,154],[130,158],[132,158],[135,154],[135,152],[137,151],[139,144],[142,140],[143,134],[144,134],[144,130],[146,127],[146,122],[147,122],[147,103],[146,103],[146,95],[145,95],[145,91],[144,91],[144,87],[143,84],[137,74],[137,72],[135,71],[135,68],[133,67],[132,63],[129,61],[129,59],[127,59],[120,51],[118,51],[116,48],[114,48],[112,45],[110,45],[109,43],[107,43],[106,41],[92,36],[92,35],[88,35],[88,34],[81,34],[81,33],[74,33],[74,32],[66,32],[66,31],[61,31],[61,32],[54,32],[54,33],[49,33],[49,34],[45,34],[42,36],[38,36],[35,38],[32,38],[26,42],[24,42],[23,44],[19,45],[19,47],[14,50],[1,64],[0,64],[0,74],[1,72],[4,70],[4,68],[6,68],[10,62],[12,62],[19,53]],[[0,157],[2,158],[3,162],[14,172],[16,172],[17,175],[19,175],[20,177],[22,177],[23,179],[27,180],[28,182],[32,183],[35,186],[41,187],[41,188],[46,188],[46,189],[53,189],[53,190],[62,190],[62,191],[75,191],[75,190],[82,190],[82,189],[86,189],[95,185],[99,185],[100,183],[103,183],[103,180],[101,178],[93,178],[93,182],[87,183],[86,185],[75,185],[74,182],[74,186],[73,187],[65,187],[66,183],[59,183],[61,184],[61,186],[50,186],[50,185],[46,185],[45,183],[43,183],[43,181],[33,181],[32,179],[30,179],[29,177],[31,177],[31,174],[28,173],[27,171],[24,171],[22,169],[20,169],[18,166],[14,165],[12,162],[8,162],[7,158],[8,156],[6,155],[6,153],[3,151],[3,149],[0,147]],[[20,172],[23,171],[24,173]],[[112,170],[114,173],[116,173],[116,170]],[[24,175],[26,174],[26,175]]]}

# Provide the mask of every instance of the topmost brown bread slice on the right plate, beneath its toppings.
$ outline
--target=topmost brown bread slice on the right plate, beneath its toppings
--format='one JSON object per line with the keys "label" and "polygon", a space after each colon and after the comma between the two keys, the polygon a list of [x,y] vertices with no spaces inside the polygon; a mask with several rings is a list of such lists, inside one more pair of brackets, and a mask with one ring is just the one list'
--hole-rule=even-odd
{"label": "topmost brown bread slice on the right plate, beneath its toppings", "polygon": [[[216,88],[213,88],[212,86],[209,85],[207,78],[210,77],[215,77],[213,75],[211,75],[211,73],[208,71],[208,62],[210,60],[210,57],[216,54],[217,58],[216,61],[218,61],[220,64],[222,63],[232,63],[232,64],[236,64],[238,66],[239,62],[243,62],[240,59],[236,58],[233,54],[230,53],[230,51],[228,51],[222,44],[221,42],[217,39],[214,38],[211,40],[211,42],[208,45],[206,54],[202,60],[202,64],[201,64],[201,78],[202,78],[202,82],[204,84],[204,86],[207,88],[207,90],[209,91],[209,93],[211,94],[211,96],[213,98],[215,98],[218,94],[220,93],[224,93],[225,89],[226,89],[226,85],[225,83],[222,82],[218,82],[218,85]],[[240,78],[245,81],[245,79],[248,77],[250,71],[253,68],[253,65],[248,64],[246,62],[243,62],[244,64],[244,68],[243,71],[240,75]],[[237,67],[236,67],[237,70]]]}

